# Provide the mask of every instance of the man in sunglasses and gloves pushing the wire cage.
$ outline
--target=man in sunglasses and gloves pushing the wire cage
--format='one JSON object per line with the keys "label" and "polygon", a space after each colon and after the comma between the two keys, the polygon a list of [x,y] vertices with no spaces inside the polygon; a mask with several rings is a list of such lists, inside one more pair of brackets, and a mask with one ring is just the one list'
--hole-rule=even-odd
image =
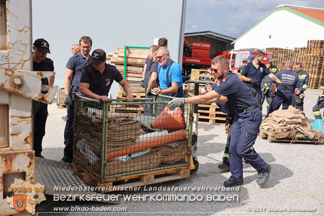
{"label": "man in sunglasses and gloves pushing the wire cage", "polygon": [[226,102],[229,100],[236,115],[231,127],[229,145],[231,177],[224,182],[224,186],[233,187],[243,184],[242,158],[257,170],[257,182],[262,186],[267,183],[271,167],[251,149],[259,132],[262,112],[248,87],[236,74],[229,72],[229,61],[226,57],[215,57],[211,61],[211,69],[215,79],[222,80],[217,88],[205,95],[191,98],[174,98],[168,103],[168,106],[173,110],[185,103]]}

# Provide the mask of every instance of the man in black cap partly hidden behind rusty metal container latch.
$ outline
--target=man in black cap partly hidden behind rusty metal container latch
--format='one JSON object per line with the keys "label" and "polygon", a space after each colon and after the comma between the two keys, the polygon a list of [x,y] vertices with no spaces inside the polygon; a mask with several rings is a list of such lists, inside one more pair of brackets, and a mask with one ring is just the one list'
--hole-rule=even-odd
{"label": "man in black cap partly hidden behind rusty metal container latch", "polygon": [[[33,43],[33,70],[34,71],[54,71],[54,64],[52,59],[47,58],[47,53],[50,52],[50,44],[45,39],[37,39]],[[43,85],[54,85],[54,75],[41,79]],[[42,91],[46,94],[47,91]],[[34,110],[34,150],[36,157],[43,157],[42,140],[45,135],[45,125],[48,116],[47,104],[33,100]]]}

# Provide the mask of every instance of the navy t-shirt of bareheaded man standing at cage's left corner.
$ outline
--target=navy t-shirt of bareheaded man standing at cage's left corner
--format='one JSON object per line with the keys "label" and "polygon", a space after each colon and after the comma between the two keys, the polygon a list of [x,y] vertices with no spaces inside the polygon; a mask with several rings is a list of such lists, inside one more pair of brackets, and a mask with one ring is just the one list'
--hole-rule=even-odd
{"label": "navy t-shirt of bareheaded man standing at cage's left corner", "polygon": [[[90,58],[89,58],[90,59]],[[88,61],[85,57],[82,56],[81,53],[76,54],[68,60],[68,63],[66,63],[66,67],[73,70],[73,78],[71,81],[71,85],[73,86],[80,86],[80,78],[81,78],[81,72],[84,66],[88,64]]]}

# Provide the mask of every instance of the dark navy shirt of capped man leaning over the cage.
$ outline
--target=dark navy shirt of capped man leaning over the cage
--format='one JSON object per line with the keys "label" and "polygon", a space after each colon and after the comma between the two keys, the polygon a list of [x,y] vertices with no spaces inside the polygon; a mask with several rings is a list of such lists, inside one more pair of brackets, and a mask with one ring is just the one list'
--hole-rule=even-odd
{"label": "dark navy shirt of capped man leaning over the cage", "polygon": [[108,96],[110,87],[112,86],[114,80],[116,80],[116,82],[123,80],[123,77],[115,66],[110,64],[105,65],[105,70],[101,74],[100,71],[95,70],[92,64],[87,64],[82,69],[80,79],[80,82],[85,82],[90,85],[90,91],[100,96]]}

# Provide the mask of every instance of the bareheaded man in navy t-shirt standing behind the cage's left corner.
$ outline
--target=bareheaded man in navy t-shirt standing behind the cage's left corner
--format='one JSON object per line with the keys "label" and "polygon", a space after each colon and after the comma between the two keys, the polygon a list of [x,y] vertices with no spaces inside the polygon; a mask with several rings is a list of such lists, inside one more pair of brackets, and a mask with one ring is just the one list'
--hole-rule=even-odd
{"label": "bareheaded man in navy t-shirt standing behind the cage's left corner", "polygon": [[73,160],[73,93],[80,91],[79,84],[81,71],[88,63],[92,47],[92,39],[88,36],[83,36],[79,39],[79,44],[81,47],[81,52],[70,57],[65,67],[64,104],[67,106],[68,116],[64,129],[64,156],[61,161],[67,163],[72,163]]}

